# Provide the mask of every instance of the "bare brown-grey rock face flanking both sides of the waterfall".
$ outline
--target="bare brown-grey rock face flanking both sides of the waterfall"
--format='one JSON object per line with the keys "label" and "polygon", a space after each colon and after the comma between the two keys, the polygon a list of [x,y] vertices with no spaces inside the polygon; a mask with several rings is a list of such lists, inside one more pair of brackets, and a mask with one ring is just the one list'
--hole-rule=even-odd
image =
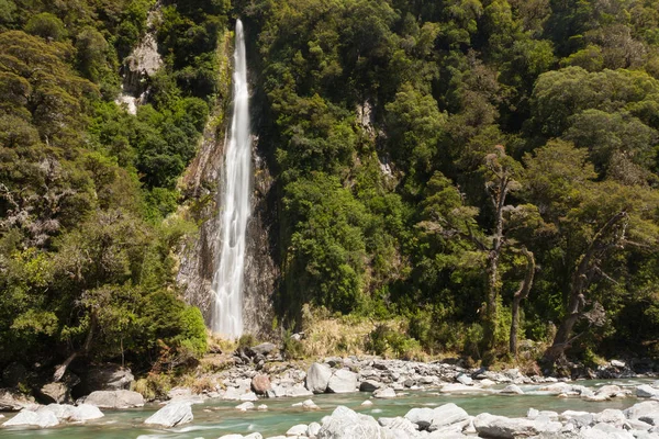
{"label": "bare brown-grey rock face flanking both sides of the waterfall", "polygon": [[[199,226],[196,237],[179,250],[177,280],[185,290],[186,302],[198,306],[206,322],[211,319],[213,275],[219,262],[221,243],[222,184],[226,128],[231,123],[231,38],[220,48],[221,85],[213,116],[209,122],[199,151],[188,167],[182,192],[187,199],[186,215]],[[252,217],[247,225],[247,259],[245,261],[245,331],[267,337],[273,317],[272,294],[278,271],[272,258],[270,228],[272,214],[269,209],[273,180],[265,160],[261,159],[258,138],[253,138]]]}

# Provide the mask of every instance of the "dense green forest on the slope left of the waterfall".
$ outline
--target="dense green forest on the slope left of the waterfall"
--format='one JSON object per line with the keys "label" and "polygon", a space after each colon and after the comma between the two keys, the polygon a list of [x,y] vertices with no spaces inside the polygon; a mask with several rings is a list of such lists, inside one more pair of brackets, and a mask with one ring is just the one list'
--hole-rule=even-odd
{"label": "dense green forest on the slope left of the waterfall", "polygon": [[144,371],[206,349],[171,254],[194,225],[164,218],[208,119],[228,5],[161,5],[164,67],[131,115],[113,101],[154,7],[0,0],[0,367]]}

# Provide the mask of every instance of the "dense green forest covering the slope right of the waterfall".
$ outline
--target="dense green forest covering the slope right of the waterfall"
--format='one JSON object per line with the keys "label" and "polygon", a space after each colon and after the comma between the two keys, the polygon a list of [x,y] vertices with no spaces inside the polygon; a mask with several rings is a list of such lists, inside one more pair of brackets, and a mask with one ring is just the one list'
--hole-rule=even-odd
{"label": "dense green forest covering the slope right of the waterfall", "polygon": [[474,358],[509,349],[512,314],[549,363],[656,352],[657,1],[236,3],[280,312],[404,316],[426,350]]}

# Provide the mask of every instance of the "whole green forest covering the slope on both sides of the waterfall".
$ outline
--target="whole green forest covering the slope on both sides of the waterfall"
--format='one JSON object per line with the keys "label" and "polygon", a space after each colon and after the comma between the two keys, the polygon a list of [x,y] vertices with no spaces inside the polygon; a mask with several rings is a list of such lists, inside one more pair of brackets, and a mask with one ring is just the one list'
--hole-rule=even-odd
{"label": "whole green forest covering the slope on both sides of the waterfall", "polygon": [[172,213],[238,16],[279,328],[311,306],[383,322],[373,353],[659,353],[659,1],[166,0],[131,115],[154,5],[0,0],[0,364],[203,354]]}

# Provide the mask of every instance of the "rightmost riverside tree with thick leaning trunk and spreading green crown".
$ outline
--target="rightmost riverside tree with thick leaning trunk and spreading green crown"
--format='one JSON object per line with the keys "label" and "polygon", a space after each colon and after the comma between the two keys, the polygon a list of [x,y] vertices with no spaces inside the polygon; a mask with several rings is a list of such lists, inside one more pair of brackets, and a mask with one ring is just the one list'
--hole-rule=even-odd
{"label": "rightmost riverside tree with thick leaning trunk and spreading green crown", "polygon": [[604,264],[625,248],[652,248],[659,237],[659,196],[643,187],[595,181],[587,154],[572,144],[552,142],[525,159],[527,196],[561,235],[565,255],[565,313],[545,352],[549,365],[588,330],[572,334],[579,320],[589,327],[603,324],[604,309],[592,294],[597,282],[615,282]]}

